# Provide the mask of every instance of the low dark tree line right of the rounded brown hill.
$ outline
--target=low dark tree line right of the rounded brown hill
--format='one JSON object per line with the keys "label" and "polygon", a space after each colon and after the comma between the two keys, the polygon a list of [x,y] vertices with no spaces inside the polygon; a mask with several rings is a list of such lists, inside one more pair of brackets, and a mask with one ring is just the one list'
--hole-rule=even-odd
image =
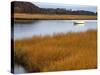
{"label": "low dark tree line right of the rounded brown hill", "polygon": [[65,8],[40,8],[39,13],[41,14],[68,14],[68,15],[97,15],[97,12],[86,11],[86,10],[66,10]]}

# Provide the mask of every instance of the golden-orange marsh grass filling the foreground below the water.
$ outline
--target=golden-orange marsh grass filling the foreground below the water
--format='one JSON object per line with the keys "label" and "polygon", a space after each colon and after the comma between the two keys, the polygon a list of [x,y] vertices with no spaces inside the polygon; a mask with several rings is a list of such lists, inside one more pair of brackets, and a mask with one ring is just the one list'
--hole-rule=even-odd
{"label": "golden-orange marsh grass filling the foreground below the water", "polygon": [[16,40],[15,62],[29,72],[48,72],[97,67],[97,31],[34,36]]}

